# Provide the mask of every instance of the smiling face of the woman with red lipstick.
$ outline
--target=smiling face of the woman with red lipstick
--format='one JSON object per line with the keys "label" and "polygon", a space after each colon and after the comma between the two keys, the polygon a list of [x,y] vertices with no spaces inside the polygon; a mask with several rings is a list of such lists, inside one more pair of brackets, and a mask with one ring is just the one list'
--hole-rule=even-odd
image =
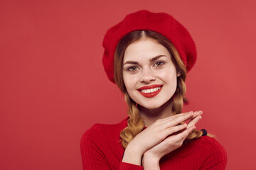
{"label": "smiling face of the woman with red lipstick", "polygon": [[159,108],[169,101],[177,76],[169,51],[156,40],[133,42],[124,52],[124,84],[129,96],[144,108]]}

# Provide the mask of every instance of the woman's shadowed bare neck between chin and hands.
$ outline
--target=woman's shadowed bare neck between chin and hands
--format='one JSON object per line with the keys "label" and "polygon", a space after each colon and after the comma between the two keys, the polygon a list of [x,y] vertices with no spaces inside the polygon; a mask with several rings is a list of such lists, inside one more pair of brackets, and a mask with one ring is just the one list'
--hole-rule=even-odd
{"label": "woman's shadowed bare neck between chin and hands", "polygon": [[172,98],[171,98],[162,106],[155,109],[147,109],[147,108],[144,108],[143,106],[138,105],[139,114],[142,120],[144,120],[145,127],[149,127],[149,125],[154,123],[156,120],[167,118],[173,115],[173,111],[172,111],[173,104],[174,102],[172,101]]}

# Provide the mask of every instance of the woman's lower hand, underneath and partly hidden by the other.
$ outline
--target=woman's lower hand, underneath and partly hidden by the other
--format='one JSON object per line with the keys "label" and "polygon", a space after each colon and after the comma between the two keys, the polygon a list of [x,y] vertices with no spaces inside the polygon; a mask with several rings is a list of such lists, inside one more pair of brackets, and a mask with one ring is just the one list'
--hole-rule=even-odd
{"label": "woman's lower hand, underneath and partly hidden by the other", "polygon": [[182,132],[170,135],[169,137],[166,137],[166,139],[160,142],[158,145],[155,145],[151,149],[148,149],[144,153],[144,157],[142,160],[144,169],[156,169],[156,167],[153,168],[153,166],[159,166],[159,160],[161,159],[161,157],[164,157],[164,155],[169,154],[178,147],[181,147],[183,141],[186,139],[189,133],[196,128],[195,125],[201,119],[202,113],[203,112],[201,111],[194,113],[194,116],[190,120],[188,125],[183,124],[185,127]]}

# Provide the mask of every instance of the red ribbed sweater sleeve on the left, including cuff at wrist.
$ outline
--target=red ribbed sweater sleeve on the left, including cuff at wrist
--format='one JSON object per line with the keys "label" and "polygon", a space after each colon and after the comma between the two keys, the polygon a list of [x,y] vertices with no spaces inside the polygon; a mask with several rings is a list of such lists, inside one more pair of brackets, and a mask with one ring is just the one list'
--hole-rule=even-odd
{"label": "red ribbed sweater sleeve on the left, including cuff at wrist", "polygon": [[[92,129],[92,128],[91,128]],[[80,141],[82,166],[84,170],[111,170],[105,154],[102,152],[97,142],[93,140],[90,130],[82,135]],[[125,162],[118,163],[119,170],[143,170],[143,166],[129,164]]]}

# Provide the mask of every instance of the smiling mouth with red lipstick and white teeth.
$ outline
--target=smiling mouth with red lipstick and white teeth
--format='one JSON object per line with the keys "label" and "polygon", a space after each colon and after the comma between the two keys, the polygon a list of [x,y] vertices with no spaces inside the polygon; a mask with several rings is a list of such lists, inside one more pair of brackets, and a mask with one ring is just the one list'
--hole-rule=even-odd
{"label": "smiling mouth with red lipstick and white teeth", "polygon": [[137,90],[140,94],[142,94],[142,96],[146,98],[152,98],[160,93],[162,86],[163,85],[153,84],[150,86],[143,86]]}

